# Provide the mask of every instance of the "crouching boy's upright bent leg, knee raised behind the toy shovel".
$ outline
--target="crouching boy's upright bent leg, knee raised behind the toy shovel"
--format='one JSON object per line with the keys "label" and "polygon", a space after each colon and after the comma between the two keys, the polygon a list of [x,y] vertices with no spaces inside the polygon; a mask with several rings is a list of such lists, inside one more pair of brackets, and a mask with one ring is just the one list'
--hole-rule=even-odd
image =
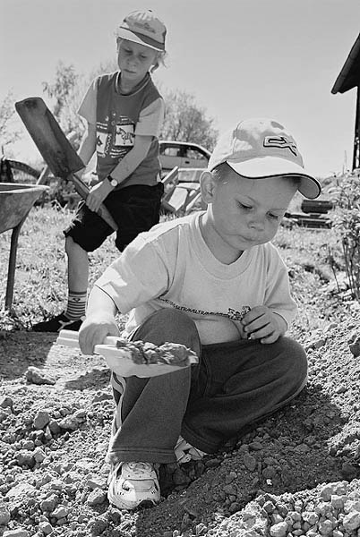
{"label": "crouching boy's upright bent leg, knee raised behind the toy shovel", "polygon": [[[137,339],[156,345],[165,341],[180,343],[200,354],[195,324],[181,311],[155,312],[133,335],[133,340]],[[192,374],[196,374],[196,369],[185,368],[150,379],[113,376],[116,421],[107,453],[109,462],[113,465],[120,461],[175,462],[174,446],[180,434]]]}

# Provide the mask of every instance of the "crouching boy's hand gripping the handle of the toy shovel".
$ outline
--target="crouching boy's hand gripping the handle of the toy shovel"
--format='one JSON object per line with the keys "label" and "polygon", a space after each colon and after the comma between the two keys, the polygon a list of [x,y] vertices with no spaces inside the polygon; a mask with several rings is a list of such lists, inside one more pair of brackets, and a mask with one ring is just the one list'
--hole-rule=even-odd
{"label": "crouching boy's hand gripping the handle of the toy shovel", "polygon": [[120,336],[115,318],[104,313],[91,315],[84,320],[79,330],[81,353],[94,354],[94,346],[100,345],[107,336]]}

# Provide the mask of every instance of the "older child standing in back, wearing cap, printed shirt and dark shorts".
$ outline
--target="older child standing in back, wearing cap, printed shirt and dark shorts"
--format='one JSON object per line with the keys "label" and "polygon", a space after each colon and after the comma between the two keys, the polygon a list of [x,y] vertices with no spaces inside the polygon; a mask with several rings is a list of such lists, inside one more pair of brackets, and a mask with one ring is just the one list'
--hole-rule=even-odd
{"label": "older child standing in back, wearing cap, printed shirt and dark shorts", "polygon": [[88,252],[113,229],[94,212],[104,202],[118,226],[116,247],[159,222],[159,132],[164,101],[150,72],[163,62],[166,27],[151,11],[136,11],[116,30],[119,71],[99,76],[82,100],[87,122],[79,155],[87,165],[97,151],[97,178],[76,216],[64,230],[68,258],[68,300],[56,317],[33,325],[35,331],[78,330],[84,319],[89,279]]}

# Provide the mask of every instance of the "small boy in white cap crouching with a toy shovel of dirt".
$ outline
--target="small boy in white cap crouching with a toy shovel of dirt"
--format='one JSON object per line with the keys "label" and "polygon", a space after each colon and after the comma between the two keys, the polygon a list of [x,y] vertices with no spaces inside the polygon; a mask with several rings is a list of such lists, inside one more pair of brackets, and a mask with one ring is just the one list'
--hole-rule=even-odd
{"label": "small boy in white cap crouching with a toy shovel of dirt", "polygon": [[[141,379],[112,375],[116,419],[108,499],[156,504],[157,465],[216,452],[304,388],[304,349],[285,337],[296,314],[287,268],[270,243],[296,191],[321,192],[278,122],[250,119],[219,139],[201,176],[206,211],[140,234],[90,294],[85,354],[118,336],[186,345],[199,365]],[[123,334],[124,337],[124,334]]]}

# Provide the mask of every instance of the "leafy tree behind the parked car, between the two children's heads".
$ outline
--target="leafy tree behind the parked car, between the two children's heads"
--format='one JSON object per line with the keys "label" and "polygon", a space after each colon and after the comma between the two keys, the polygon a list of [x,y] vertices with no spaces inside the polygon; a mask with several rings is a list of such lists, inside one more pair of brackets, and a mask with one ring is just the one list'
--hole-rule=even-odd
{"label": "leafy tree behind the parked car, between the two children's heads", "polygon": [[219,134],[213,126],[214,119],[207,117],[205,109],[186,91],[166,91],[163,95],[166,116],[160,138],[199,143],[211,151]]}

